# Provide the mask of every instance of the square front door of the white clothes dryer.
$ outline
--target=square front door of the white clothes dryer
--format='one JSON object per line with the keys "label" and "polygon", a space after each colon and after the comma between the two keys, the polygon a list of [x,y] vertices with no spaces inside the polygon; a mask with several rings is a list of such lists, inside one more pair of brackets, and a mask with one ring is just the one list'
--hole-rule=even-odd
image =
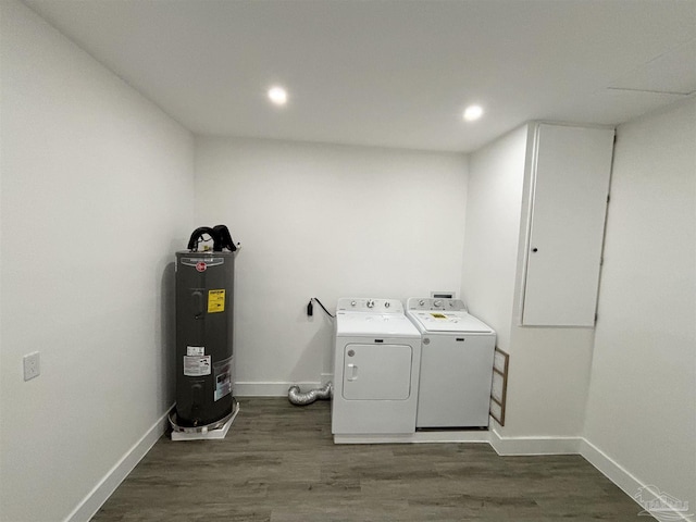
{"label": "square front door of the white clothes dryer", "polygon": [[344,399],[406,400],[411,396],[413,350],[408,345],[344,348]]}

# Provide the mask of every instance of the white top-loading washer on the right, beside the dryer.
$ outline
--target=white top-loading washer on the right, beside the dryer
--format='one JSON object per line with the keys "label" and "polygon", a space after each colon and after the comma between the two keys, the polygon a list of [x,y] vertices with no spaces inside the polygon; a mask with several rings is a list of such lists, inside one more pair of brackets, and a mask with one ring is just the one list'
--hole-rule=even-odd
{"label": "white top-loading washer on the right, beside the dryer", "polygon": [[461,299],[412,297],[406,308],[423,336],[415,426],[488,426],[495,331]]}

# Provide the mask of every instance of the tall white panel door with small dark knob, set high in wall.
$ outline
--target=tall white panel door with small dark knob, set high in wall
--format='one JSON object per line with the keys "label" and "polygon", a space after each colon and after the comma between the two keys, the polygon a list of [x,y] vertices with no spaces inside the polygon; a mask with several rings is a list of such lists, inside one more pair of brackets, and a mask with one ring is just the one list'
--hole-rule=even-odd
{"label": "tall white panel door with small dark knob, set high in wall", "polygon": [[537,127],[523,325],[595,324],[613,135]]}

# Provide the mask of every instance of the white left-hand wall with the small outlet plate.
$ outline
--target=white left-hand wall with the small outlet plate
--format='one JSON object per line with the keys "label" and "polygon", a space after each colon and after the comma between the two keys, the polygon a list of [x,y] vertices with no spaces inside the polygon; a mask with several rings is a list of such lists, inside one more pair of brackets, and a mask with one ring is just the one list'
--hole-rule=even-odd
{"label": "white left-hand wall with the small outlet plate", "polygon": [[58,521],[173,401],[194,142],[24,4],[1,9],[0,519]]}

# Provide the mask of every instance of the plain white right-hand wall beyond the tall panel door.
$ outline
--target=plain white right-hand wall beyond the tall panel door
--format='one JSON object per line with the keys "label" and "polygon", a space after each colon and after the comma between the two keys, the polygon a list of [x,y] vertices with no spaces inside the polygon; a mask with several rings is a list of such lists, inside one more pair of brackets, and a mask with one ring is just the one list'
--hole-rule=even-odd
{"label": "plain white right-hand wall beyond the tall panel door", "polygon": [[696,100],[617,136],[585,437],[694,512]]}

